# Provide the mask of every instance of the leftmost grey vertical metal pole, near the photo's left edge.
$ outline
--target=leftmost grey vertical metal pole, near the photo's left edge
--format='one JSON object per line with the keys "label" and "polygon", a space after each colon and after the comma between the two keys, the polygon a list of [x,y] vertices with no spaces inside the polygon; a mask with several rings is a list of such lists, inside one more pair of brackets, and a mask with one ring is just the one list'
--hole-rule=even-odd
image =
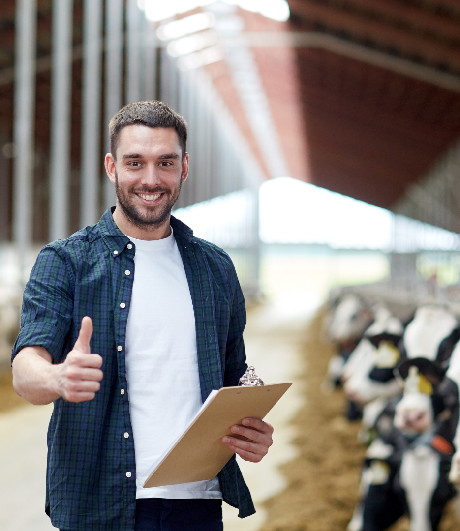
{"label": "leftmost grey vertical metal pole, near the photo's left edge", "polygon": [[[32,187],[35,138],[37,2],[16,2],[14,86],[13,239],[24,272],[25,251],[32,244]],[[22,275],[23,276],[23,275]],[[21,278],[21,280],[23,280]]]}

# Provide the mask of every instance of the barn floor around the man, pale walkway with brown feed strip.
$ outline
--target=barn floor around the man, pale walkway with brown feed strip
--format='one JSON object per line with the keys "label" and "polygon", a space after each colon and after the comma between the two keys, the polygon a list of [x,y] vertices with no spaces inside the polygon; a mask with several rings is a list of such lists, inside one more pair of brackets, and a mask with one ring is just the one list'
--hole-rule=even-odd
{"label": "barn floor around the man, pale walkway with brown feed strip", "polygon": [[[357,498],[365,449],[356,442],[359,423],[348,423],[343,417],[342,391],[329,396],[320,391],[328,359],[333,355],[333,348],[321,339],[321,312],[309,324],[305,318],[296,326],[292,321],[279,321],[273,327],[268,310],[258,307],[249,311],[245,334],[248,361],[256,369],[260,367],[266,381],[289,379],[294,386],[289,390],[291,396],[287,394],[269,418],[277,435],[267,456],[270,459],[264,460],[263,467],[264,461],[242,464],[258,513],[240,520],[226,506],[225,529],[345,531]],[[25,405],[15,395],[11,371],[0,376],[0,424],[11,435],[4,441],[0,457],[0,469],[10,478],[5,482],[6,489],[0,489],[4,500],[0,504],[0,527],[5,531],[52,529],[42,512],[49,411],[49,406]],[[28,449],[33,450],[30,459],[26,457]],[[30,490],[27,510],[23,503],[22,507],[18,505],[24,497],[13,495],[24,488]],[[458,529],[460,524],[453,508],[449,508],[439,531]],[[407,530],[407,520],[391,528]]]}

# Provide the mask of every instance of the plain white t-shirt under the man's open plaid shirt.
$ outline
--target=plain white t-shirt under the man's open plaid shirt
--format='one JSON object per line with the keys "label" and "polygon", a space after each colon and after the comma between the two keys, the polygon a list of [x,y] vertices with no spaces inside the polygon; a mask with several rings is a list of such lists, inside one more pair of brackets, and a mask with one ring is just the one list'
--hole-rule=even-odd
{"label": "plain white t-shirt under the man's open plaid shirt", "polygon": [[126,328],[126,379],[136,497],[222,499],[217,477],[142,488],[147,470],[188,426],[202,400],[195,315],[174,235],[153,241],[130,239],[136,252]]}

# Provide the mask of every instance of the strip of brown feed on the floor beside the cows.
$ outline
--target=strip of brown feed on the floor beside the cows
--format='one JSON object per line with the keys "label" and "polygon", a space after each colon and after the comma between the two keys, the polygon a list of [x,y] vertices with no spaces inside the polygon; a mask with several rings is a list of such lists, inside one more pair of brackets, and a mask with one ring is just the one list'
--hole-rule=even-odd
{"label": "strip of brown feed on the floor beside the cows", "polygon": [[[321,312],[305,329],[302,383],[305,405],[294,419],[299,455],[281,468],[286,489],[265,503],[262,531],[344,531],[351,518],[365,448],[357,443],[359,423],[343,416],[340,389],[325,396],[320,384],[333,347],[321,339]],[[439,531],[458,531],[460,523],[449,507]],[[406,531],[402,519],[391,531]]]}

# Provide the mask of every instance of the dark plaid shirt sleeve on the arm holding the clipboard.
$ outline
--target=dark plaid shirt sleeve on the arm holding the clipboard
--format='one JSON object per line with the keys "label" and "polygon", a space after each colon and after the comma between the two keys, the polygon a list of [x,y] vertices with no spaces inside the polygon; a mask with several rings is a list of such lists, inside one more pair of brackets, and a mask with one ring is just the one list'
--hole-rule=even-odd
{"label": "dark plaid shirt sleeve on the arm holding the clipboard", "polygon": [[237,386],[238,380],[248,368],[243,340],[243,331],[246,326],[246,306],[240,282],[233,267],[232,273],[234,296],[225,353],[224,387]]}

